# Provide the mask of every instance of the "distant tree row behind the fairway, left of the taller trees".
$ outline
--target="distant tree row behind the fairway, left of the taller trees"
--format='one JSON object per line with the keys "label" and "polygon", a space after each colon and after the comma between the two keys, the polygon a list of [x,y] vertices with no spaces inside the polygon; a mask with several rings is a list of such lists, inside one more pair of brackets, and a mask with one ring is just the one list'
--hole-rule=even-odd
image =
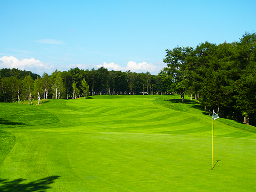
{"label": "distant tree row behind the fairway, left of the taller trees", "polygon": [[67,99],[101,94],[160,94],[162,87],[158,76],[131,71],[109,71],[101,67],[97,70],[70,68],[68,71],[54,71],[38,74],[18,69],[0,70],[0,101],[24,102],[42,98]]}

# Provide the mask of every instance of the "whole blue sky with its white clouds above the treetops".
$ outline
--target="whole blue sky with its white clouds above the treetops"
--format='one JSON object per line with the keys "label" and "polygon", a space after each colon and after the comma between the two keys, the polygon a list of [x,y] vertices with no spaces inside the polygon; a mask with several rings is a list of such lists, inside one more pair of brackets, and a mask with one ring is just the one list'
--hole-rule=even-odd
{"label": "whole blue sky with its white clouds above the treetops", "polygon": [[0,68],[158,74],[166,49],[256,30],[255,0],[0,0]]}

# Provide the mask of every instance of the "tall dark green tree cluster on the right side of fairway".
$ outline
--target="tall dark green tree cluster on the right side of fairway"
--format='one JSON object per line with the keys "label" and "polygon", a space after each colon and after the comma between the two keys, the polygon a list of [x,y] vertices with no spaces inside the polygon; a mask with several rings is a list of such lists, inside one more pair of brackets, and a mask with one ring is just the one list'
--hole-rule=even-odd
{"label": "tall dark green tree cluster on the right side of fairway", "polygon": [[166,50],[167,64],[158,76],[168,92],[191,94],[205,110],[244,123],[256,121],[256,34],[246,32],[239,42]]}

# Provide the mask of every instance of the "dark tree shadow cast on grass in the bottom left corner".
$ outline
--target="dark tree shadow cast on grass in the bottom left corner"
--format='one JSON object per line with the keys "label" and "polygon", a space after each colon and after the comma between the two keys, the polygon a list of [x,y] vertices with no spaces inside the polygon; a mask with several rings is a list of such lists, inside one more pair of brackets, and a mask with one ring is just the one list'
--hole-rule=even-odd
{"label": "dark tree shadow cast on grass in the bottom left corner", "polygon": [[0,191],[3,192],[45,192],[46,189],[50,189],[48,186],[54,183],[54,180],[58,179],[60,176],[49,176],[40,180],[32,181],[26,183],[26,179],[15,179],[6,180],[0,178]]}

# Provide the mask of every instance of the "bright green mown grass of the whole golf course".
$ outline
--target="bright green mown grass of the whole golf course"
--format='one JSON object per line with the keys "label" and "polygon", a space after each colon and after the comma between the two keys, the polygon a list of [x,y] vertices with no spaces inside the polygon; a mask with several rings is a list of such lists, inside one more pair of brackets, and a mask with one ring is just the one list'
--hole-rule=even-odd
{"label": "bright green mown grass of the whole golf course", "polygon": [[255,127],[214,120],[211,170],[212,117],[195,100],[91,98],[0,103],[0,191],[256,191]]}

